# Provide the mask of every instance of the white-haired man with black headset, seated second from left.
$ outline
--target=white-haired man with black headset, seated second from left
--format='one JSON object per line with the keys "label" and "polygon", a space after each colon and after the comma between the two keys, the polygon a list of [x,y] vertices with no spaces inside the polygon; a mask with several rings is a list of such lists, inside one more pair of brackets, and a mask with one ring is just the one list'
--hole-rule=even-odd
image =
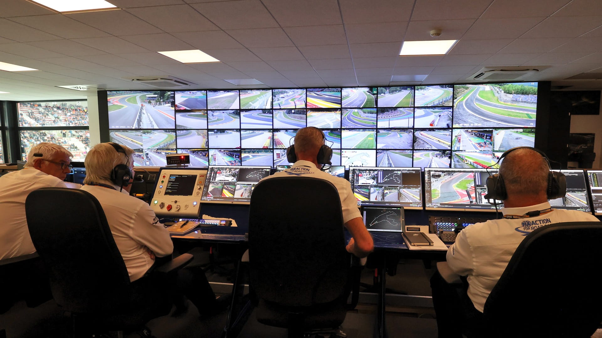
{"label": "white-haired man with black headset, seated second from left", "polygon": [[[161,281],[152,273],[155,257],[172,254],[173,243],[151,207],[129,195],[134,171],[133,154],[134,150],[120,144],[96,144],[85,157],[86,176],[81,189],[90,192],[101,203],[128,269],[129,280],[134,286],[152,292],[161,286]],[[182,269],[174,283],[179,287],[172,289],[185,290],[201,315],[223,310],[223,304],[216,303],[216,295],[202,269]],[[178,297],[174,301],[178,311],[185,309],[185,303]]]}

